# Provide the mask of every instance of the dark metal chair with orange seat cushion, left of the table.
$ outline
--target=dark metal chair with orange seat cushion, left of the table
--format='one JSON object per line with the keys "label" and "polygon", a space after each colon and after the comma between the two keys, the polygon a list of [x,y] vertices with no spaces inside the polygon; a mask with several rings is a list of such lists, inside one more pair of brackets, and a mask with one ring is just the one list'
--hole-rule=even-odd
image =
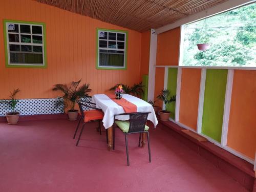
{"label": "dark metal chair with orange seat cushion, left of the table", "polygon": [[[86,123],[98,121],[99,122],[99,133],[101,135],[100,121],[102,121],[103,116],[104,116],[104,113],[102,112],[101,109],[96,108],[96,106],[90,106],[90,105],[86,104],[86,103],[90,103],[90,104],[95,105],[95,103],[92,103],[92,102],[89,102],[89,101],[83,101],[83,100],[79,100],[79,101],[77,101],[77,103],[78,103],[78,106],[79,106],[79,109],[80,109],[80,118],[79,118],[78,124],[76,126],[76,131],[75,131],[73,139],[75,139],[75,137],[76,137],[76,133],[78,131],[81,120],[83,120],[83,125],[82,125],[82,129],[80,131],[78,140],[76,142],[76,146],[78,145],[78,143],[80,141],[80,138],[81,138],[81,135],[82,135],[82,132],[83,132],[83,129],[84,129],[84,125],[86,125]],[[83,111],[82,106],[86,106],[86,107],[91,108],[93,110]],[[108,143],[108,132],[107,131],[106,131],[106,142]]]}

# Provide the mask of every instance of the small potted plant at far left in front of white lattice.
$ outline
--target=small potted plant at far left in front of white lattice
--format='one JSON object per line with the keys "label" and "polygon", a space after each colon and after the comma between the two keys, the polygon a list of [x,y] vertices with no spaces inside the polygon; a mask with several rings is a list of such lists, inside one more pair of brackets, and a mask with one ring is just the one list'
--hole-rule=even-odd
{"label": "small potted plant at far left in front of white lattice", "polygon": [[19,112],[15,110],[18,103],[16,99],[16,94],[19,92],[19,89],[15,89],[11,92],[10,99],[0,100],[0,103],[6,103],[11,112],[5,114],[8,124],[17,124],[19,119]]}

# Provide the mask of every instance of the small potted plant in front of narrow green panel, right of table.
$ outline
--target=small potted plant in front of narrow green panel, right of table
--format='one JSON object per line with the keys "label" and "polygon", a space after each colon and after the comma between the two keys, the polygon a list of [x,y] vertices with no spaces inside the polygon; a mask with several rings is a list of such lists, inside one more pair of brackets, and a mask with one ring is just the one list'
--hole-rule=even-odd
{"label": "small potted plant in front of narrow green panel, right of table", "polygon": [[167,111],[166,109],[170,103],[176,101],[176,95],[170,96],[170,91],[167,89],[164,89],[161,91],[160,95],[157,96],[157,98],[160,99],[161,101],[163,101],[163,103],[165,105],[165,110],[159,111],[160,119],[162,121],[167,121],[167,120],[169,120],[170,112]]}

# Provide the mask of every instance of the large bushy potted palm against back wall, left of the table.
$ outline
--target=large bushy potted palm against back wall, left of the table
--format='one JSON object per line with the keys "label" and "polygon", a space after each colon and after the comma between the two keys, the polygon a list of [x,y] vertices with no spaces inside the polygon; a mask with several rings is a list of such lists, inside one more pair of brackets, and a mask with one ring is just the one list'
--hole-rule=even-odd
{"label": "large bushy potted palm against back wall, left of the table", "polygon": [[55,102],[55,109],[63,106],[63,109],[68,109],[68,116],[69,120],[74,121],[77,119],[78,110],[75,109],[76,101],[82,97],[89,97],[90,92],[92,91],[89,89],[90,84],[84,83],[80,87],[79,81],[72,81],[70,84],[55,84],[53,91],[61,91],[63,93],[62,96],[57,97]]}

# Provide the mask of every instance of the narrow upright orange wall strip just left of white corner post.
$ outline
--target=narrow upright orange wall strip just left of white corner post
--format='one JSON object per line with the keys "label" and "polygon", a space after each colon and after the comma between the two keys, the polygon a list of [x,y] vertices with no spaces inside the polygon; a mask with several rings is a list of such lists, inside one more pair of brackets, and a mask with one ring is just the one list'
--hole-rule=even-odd
{"label": "narrow upright orange wall strip just left of white corner post", "polygon": [[148,75],[148,65],[150,63],[150,33],[151,31],[141,33],[140,77],[142,77],[142,75]]}

